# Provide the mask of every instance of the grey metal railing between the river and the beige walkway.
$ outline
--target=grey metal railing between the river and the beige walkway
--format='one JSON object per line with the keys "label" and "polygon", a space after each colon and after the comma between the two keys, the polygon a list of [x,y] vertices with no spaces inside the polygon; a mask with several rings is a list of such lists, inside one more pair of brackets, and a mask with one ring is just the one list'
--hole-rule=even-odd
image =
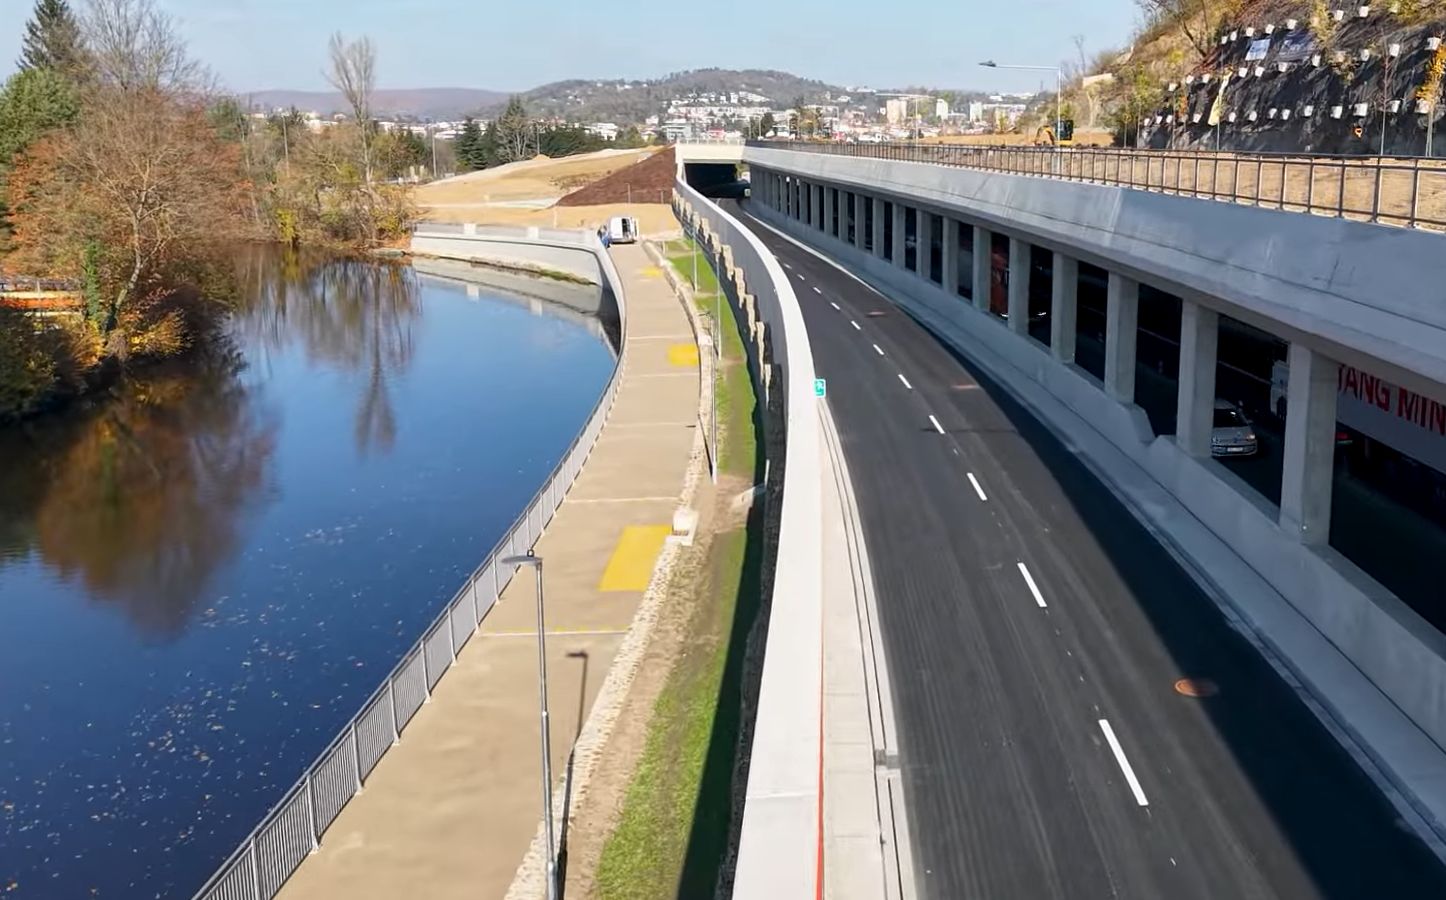
{"label": "grey metal railing between the river and the beige walkway", "polygon": [[[603,278],[613,285],[613,295],[617,298],[617,313],[626,341],[626,301],[612,258],[602,252],[596,240],[589,242],[589,236],[578,232],[568,232],[560,242],[590,246],[599,252]],[[272,807],[262,823],[197,891],[197,900],[270,900],[302,859],[318,848],[321,835],[347,802],[362,790],[382,755],[401,739],[406,723],[431,699],[442,673],[457,661],[457,653],[512,580],[516,567],[503,566],[499,560],[526,553],[542,534],[542,528],[552,521],[552,514],[562,504],[607,421],[620,375],[619,362],[587,424],[573,438],[562,460],[534,495],[526,511],[437,615],[422,638],[406,651],[382,686],[367,697],[362,710],[341,728],[281,803]]]}

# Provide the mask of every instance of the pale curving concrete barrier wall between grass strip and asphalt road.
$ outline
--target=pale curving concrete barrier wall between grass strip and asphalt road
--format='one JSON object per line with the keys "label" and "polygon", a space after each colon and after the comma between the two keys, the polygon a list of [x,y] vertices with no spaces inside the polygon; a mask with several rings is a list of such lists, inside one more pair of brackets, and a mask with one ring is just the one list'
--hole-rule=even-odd
{"label": "pale curving concrete barrier wall between grass strip and asphalt road", "polygon": [[813,350],[792,285],[763,243],[681,175],[674,203],[680,221],[722,249],[719,281],[739,317],[755,323],[755,382],[765,404],[781,389],[774,399],[784,421],[778,545],[733,896],[814,897],[823,841],[823,444]]}

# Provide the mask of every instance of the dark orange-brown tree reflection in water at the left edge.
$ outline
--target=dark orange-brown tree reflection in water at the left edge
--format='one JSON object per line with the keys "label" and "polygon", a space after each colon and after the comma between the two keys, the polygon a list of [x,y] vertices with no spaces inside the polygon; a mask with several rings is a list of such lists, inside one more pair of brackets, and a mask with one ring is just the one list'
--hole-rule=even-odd
{"label": "dark orange-brown tree reflection in water at the left edge", "polygon": [[239,369],[214,353],[147,370],[0,436],[9,554],[38,553],[153,637],[182,631],[269,477],[275,428]]}

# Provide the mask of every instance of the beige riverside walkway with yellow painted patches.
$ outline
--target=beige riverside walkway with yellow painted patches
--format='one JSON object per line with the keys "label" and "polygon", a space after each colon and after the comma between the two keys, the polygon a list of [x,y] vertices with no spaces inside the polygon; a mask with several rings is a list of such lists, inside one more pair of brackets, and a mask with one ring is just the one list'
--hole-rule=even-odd
{"label": "beige riverside walkway with yellow painted patches", "polygon": [[[698,409],[697,347],[684,310],[641,246],[612,255],[629,317],[622,383],[591,457],[536,545],[558,781],[671,532]],[[534,599],[531,573],[519,572],[281,897],[506,894],[541,819]]]}

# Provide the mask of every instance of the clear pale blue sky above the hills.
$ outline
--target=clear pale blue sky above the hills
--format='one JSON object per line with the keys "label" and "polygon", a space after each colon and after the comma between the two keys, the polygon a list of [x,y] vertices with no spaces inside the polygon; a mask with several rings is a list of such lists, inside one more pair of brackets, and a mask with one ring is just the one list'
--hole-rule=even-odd
{"label": "clear pale blue sky above the hills", "polygon": [[[80,6],[84,0],[71,0]],[[522,90],[560,78],[777,68],[834,84],[1027,90],[1053,64],[1128,39],[1132,0],[156,0],[192,52],[237,91],[325,87],[333,30],[370,35],[380,87]],[[0,72],[13,68],[30,0],[0,0]],[[1053,81],[1053,78],[1050,78]]]}

